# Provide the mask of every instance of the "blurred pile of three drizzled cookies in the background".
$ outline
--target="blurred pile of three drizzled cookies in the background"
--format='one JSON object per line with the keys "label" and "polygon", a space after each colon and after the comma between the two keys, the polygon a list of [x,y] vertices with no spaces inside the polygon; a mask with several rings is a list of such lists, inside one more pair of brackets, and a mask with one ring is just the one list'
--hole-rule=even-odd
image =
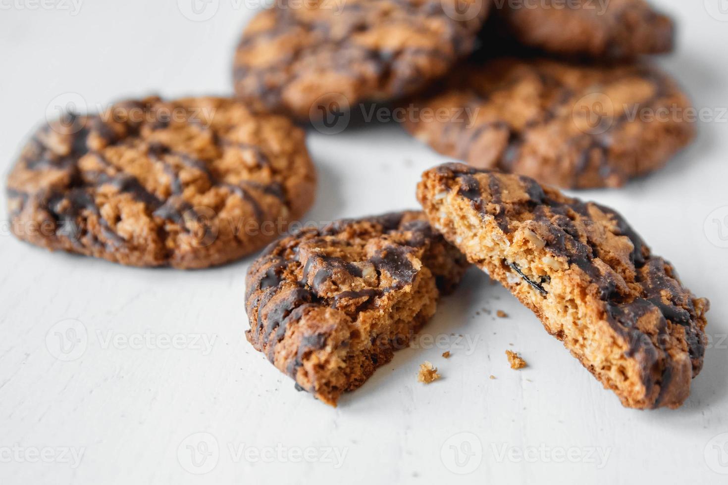
{"label": "blurred pile of three drizzled cookies in the background", "polygon": [[314,123],[397,102],[408,132],[474,167],[618,187],[694,136],[689,100],[644,59],[673,30],[644,0],[282,2],[243,34],[235,89]]}

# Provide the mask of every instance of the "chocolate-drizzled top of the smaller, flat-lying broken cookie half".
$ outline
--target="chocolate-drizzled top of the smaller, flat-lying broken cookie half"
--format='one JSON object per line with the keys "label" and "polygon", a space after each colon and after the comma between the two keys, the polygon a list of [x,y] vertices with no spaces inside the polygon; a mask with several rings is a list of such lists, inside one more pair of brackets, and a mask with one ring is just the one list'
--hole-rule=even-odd
{"label": "chocolate-drizzled top of the smaller, flat-lying broken cookie half", "polygon": [[[345,255],[364,254],[365,241],[372,239],[379,239],[379,249],[368,257],[360,255],[352,260],[352,256]],[[386,305],[392,302],[384,298],[390,294],[395,294],[394,298],[408,294],[422,271],[415,268],[413,260],[424,265],[435,247],[449,248],[442,257],[449,258],[452,266],[447,268],[447,273],[439,267],[430,268],[427,277],[438,278],[443,291],[451,289],[462,275],[465,262],[461,254],[432,231],[421,213],[339,220],[323,228],[301,229],[269,246],[248,272],[246,309],[253,322],[248,340],[296,379],[298,369],[310,353],[335,345],[327,343],[331,334],[309,333],[308,327],[302,326],[301,319],[307,313],[329,309],[339,318],[352,322],[370,310],[372,315],[381,312],[386,315],[389,311]],[[319,324],[326,326],[325,321]],[[355,338],[368,337],[352,336],[336,345],[345,348],[349,339]],[[296,341],[294,353],[278,350],[284,345],[284,339]],[[290,341],[285,343],[286,349],[290,345]],[[376,350],[367,357],[372,370],[384,363],[384,356],[391,353],[389,347],[393,344],[384,341],[373,345]],[[277,359],[283,351],[292,357],[281,364]]]}

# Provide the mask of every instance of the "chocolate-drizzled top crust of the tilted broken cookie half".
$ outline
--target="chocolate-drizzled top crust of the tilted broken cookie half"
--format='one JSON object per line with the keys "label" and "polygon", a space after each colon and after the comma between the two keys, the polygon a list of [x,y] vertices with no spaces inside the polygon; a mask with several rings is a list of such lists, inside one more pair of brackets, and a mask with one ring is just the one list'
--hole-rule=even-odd
{"label": "chocolate-drizzled top crust of the tilted broken cookie half", "polygon": [[[456,191],[484,219],[491,217],[499,229],[510,236],[523,223],[538,223],[544,250],[558,260],[566,260],[571,270],[578,269],[586,278],[586,291],[604,305],[604,319],[628,342],[627,355],[637,357],[644,366],[647,394],[653,385],[660,386],[654,406],[660,406],[668,392],[675,369],[671,358],[670,326],[684,329],[684,341],[697,374],[705,351],[705,336],[698,326],[695,298],[677,281],[668,262],[650,253],[640,236],[625,219],[612,209],[578,199],[569,199],[555,191],[545,191],[529,177],[499,175],[463,164],[444,164],[433,169],[442,180],[439,191]],[[504,188],[493,180],[510,177],[510,204],[503,203]],[[518,188],[514,189],[514,183]],[[606,230],[614,237],[629,241],[631,268],[606,264],[609,254],[602,254],[600,240],[592,240],[590,231],[598,220],[606,220]],[[511,225],[510,222],[518,222]],[[595,236],[598,237],[598,236]],[[606,259],[605,259],[606,258]],[[518,274],[539,294],[546,296],[548,281],[537,281],[515,264],[504,264]],[[625,286],[625,283],[628,287]],[[701,301],[700,305],[707,305]],[[645,318],[643,320],[643,318]],[[646,327],[650,321],[649,327]],[[657,372],[660,376],[654,379]]]}

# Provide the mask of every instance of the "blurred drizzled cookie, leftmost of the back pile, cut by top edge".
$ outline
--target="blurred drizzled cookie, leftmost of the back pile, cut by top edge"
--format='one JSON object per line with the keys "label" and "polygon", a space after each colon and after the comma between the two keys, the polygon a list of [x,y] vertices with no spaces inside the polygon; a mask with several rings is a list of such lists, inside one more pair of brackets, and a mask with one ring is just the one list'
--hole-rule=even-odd
{"label": "blurred drizzled cookie, leftmost of the back pile, cut by top edge", "polygon": [[245,28],[235,90],[304,121],[411,94],[472,51],[490,2],[278,1]]}

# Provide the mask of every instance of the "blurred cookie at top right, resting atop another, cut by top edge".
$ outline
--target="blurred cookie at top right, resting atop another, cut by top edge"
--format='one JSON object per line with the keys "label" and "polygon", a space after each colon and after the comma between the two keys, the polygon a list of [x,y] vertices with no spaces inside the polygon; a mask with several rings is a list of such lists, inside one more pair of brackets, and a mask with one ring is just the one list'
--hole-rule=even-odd
{"label": "blurred cookie at top right, resting atop another, cut by top edge", "polygon": [[670,52],[675,30],[644,0],[497,0],[489,25],[501,42],[597,60]]}

